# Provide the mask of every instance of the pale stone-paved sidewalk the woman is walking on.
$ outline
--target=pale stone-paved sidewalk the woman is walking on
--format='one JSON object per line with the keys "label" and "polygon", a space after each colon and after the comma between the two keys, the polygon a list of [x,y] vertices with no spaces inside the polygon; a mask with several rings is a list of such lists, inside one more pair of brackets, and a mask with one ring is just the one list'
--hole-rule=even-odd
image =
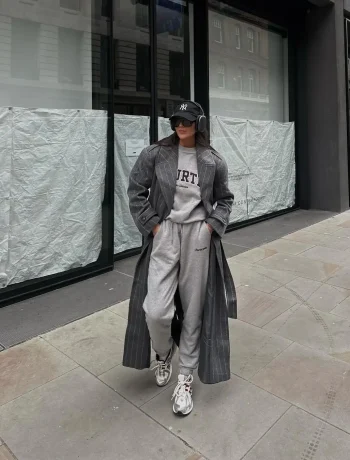
{"label": "pale stone-paved sidewalk the woman is walking on", "polygon": [[0,353],[0,460],[348,459],[350,212],[229,265],[232,379],[190,416],[121,366],[126,301]]}

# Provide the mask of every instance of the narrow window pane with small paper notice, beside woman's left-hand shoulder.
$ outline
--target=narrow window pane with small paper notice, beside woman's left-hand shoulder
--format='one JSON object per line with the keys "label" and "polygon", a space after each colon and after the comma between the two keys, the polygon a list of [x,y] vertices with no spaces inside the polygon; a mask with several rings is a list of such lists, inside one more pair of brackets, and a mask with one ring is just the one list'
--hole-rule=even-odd
{"label": "narrow window pane with small paper notice, beside woman's left-hand shoulder", "polygon": [[141,236],[129,212],[129,174],[149,145],[151,114],[148,0],[114,0],[114,253],[138,248]]}

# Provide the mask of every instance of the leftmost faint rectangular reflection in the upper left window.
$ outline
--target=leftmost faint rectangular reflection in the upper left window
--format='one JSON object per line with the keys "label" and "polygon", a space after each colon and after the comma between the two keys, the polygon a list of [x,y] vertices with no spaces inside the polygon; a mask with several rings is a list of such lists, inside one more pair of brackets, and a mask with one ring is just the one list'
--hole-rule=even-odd
{"label": "leftmost faint rectangular reflection in the upper left window", "polygon": [[11,75],[25,80],[39,79],[37,22],[12,19],[11,28]]}

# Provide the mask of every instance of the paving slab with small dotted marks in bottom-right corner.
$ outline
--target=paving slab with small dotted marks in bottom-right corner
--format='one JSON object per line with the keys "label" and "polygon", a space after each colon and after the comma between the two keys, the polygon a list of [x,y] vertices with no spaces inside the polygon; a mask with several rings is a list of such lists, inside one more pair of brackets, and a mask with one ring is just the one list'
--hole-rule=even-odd
{"label": "paving slab with small dotted marks in bottom-right corner", "polygon": [[244,460],[348,460],[350,435],[291,407]]}

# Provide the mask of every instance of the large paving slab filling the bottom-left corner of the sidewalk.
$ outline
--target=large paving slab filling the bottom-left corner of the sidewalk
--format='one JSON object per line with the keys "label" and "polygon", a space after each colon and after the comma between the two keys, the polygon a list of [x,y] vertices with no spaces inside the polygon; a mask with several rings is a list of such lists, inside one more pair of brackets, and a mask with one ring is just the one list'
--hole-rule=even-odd
{"label": "large paving slab filling the bottom-left corner of the sidewalk", "polygon": [[195,452],[82,368],[0,407],[19,460],[188,460]]}

